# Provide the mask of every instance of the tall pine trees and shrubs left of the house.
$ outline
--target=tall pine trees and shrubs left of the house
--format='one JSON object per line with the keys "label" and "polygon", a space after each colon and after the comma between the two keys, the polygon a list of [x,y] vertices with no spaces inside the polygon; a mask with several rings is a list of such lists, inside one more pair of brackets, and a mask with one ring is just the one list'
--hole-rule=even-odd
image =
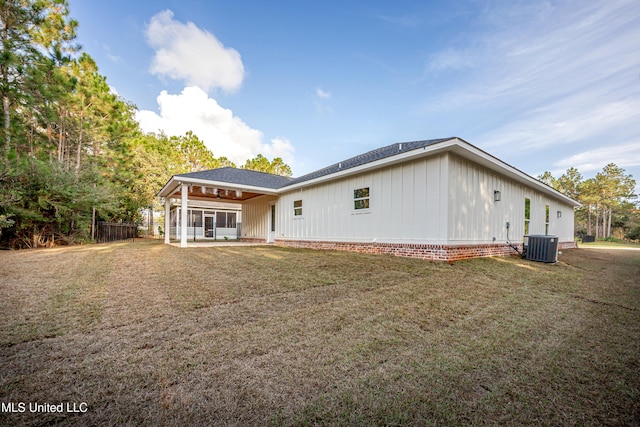
{"label": "tall pine trees and shrubs left of the house", "polygon": [[[175,174],[233,166],[192,132],[143,133],[76,42],[67,0],[0,2],[0,246],[87,240],[97,220],[141,220]],[[247,169],[290,176],[281,158]]]}

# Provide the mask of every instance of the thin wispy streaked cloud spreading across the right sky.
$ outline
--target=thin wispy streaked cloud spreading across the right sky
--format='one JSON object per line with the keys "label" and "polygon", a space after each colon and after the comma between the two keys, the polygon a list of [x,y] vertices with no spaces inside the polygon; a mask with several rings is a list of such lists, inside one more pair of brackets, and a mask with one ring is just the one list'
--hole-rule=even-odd
{"label": "thin wispy streaked cloud spreading across the right sky", "polygon": [[426,99],[422,111],[457,117],[458,126],[468,122],[455,132],[528,168],[636,167],[636,2],[497,0],[482,7],[463,30],[466,44],[455,39],[427,58],[426,71],[459,72],[427,76],[447,89]]}

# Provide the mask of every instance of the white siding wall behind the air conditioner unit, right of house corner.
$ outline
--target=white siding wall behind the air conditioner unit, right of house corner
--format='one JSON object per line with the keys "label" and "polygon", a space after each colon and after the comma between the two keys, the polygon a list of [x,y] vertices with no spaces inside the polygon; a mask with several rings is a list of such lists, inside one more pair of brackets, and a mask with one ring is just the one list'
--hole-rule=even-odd
{"label": "white siding wall behind the air conditioner unit, right of house corner", "polygon": [[[573,241],[572,206],[455,155],[450,156],[449,171],[450,243],[505,242],[507,222],[509,239],[522,242],[525,198],[531,202],[529,234],[545,234],[548,205],[548,234],[558,236],[561,242]],[[494,201],[495,190],[500,191],[500,201]]]}

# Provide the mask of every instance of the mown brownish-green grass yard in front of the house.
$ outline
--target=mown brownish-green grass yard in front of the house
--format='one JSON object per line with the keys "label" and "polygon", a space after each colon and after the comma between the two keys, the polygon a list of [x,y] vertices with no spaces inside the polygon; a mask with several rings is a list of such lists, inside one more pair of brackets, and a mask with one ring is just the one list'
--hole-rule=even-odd
{"label": "mown brownish-green grass yard in front of the house", "polygon": [[3,251],[0,282],[0,425],[640,424],[638,251],[142,240]]}

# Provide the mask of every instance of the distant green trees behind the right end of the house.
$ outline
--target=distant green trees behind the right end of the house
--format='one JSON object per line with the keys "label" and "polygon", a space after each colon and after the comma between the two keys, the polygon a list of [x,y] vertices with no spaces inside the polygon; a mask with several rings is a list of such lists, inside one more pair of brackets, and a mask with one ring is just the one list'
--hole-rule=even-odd
{"label": "distant green trees behind the right end of the house", "polygon": [[[634,202],[636,181],[614,163],[589,179],[573,167],[559,178],[547,171],[538,179],[582,204],[575,214],[578,234],[597,239],[640,239],[640,211]],[[618,236],[614,236],[615,230],[619,230]]]}

